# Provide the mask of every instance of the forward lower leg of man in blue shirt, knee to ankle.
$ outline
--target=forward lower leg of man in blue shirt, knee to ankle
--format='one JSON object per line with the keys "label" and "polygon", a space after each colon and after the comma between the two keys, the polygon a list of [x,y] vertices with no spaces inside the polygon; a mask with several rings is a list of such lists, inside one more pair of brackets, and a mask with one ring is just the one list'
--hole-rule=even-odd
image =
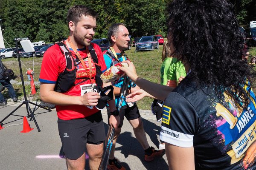
{"label": "forward lower leg of man in blue shirt, knee to ankle", "polygon": [[146,150],[149,147],[148,140],[146,137],[146,133],[143,127],[143,122],[141,120],[141,117],[134,120],[129,120],[131,126],[134,130],[134,135],[136,136],[136,139],[140,142],[143,149]]}

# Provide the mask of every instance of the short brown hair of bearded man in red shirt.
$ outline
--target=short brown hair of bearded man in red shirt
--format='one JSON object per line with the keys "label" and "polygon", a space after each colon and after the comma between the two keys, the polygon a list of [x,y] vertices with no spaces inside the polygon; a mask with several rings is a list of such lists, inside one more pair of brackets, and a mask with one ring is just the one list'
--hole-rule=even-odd
{"label": "short brown hair of bearded man in red shirt", "polygon": [[91,8],[83,5],[76,5],[71,7],[67,12],[67,23],[72,21],[77,25],[82,16],[90,16],[97,19],[98,14]]}

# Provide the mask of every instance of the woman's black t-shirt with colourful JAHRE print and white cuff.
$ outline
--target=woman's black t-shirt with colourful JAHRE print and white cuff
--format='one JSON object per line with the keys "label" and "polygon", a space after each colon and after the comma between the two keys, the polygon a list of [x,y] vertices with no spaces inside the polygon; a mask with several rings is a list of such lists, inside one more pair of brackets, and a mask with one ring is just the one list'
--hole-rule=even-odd
{"label": "woman's black t-shirt with colourful JAHRE print and white cuff", "polygon": [[[246,111],[236,107],[225,91],[218,99],[213,85],[196,85],[186,78],[164,101],[160,139],[180,147],[193,146],[198,170],[244,169],[243,157],[255,149],[250,145],[256,142],[252,90]],[[256,170],[255,160],[247,168]]]}

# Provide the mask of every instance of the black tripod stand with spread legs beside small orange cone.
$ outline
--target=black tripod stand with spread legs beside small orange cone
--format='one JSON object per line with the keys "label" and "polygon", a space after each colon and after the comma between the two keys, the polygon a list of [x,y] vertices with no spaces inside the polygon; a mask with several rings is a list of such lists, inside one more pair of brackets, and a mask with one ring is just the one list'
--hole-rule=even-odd
{"label": "black tripod stand with spread legs beside small orange cone", "polygon": [[[52,110],[50,110],[50,109],[48,109],[48,108],[44,108],[44,107],[42,107],[42,106],[40,106],[40,105],[37,105],[37,104],[35,104],[35,103],[33,103],[33,102],[30,102],[30,101],[28,101],[27,100],[27,97],[26,97],[26,91],[25,91],[25,85],[24,85],[24,79],[23,79],[23,74],[22,74],[22,69],[21,69],[21,64],[20,64],[20,54],[19,54],[19,51],[18,51],[18,41],[20,41],[20,40],[27,40],[28,38],[15,38],[15,44],[16,44],[16,49],[17,49],[17,57],[18,57],[18,62],[19,62],[19,67],[20,67],[20,78],[21,78],[21,82],[22,82],[22,88],[23,88],[23,94],[24,94],[24,101],[17,107],[17,108],[15,108],[11,113],[9,113],[9,115],[7,115],[3,120],[1,120],[0,121],[0,124],[5,120],[5,119],[7,119],[9,116],[20,116],[20,115],[15,115],[15,114],[13,114],[15,111],[17,111],[22,105],[26,105],[26,111],[27,111],[27,117],[30,117],[31,116],[31,119],[33,119],[33,121],[35,122],[35,126],[37,127],[37,129],[38,129],[38,132],[40,132],[41,130],[40,130],[40,128],[39,128],[39,126],[38,126],[38,123],[36,122],[36,120],[35,120],[35,116],[34,116],[34,111],[32,111],[31,110],[31,108],[30,108],[30,106],[29,106],[29,103],[30,104],[32,104],[32,105],[35,105],[35,106],[37,106],[38,108],[43,108],[43,109],[46,109],[47,111],[52,111]],[[23,116],[20,116],[20,117],[23,117]],[[30,120],[31,120],[30,119]]]}

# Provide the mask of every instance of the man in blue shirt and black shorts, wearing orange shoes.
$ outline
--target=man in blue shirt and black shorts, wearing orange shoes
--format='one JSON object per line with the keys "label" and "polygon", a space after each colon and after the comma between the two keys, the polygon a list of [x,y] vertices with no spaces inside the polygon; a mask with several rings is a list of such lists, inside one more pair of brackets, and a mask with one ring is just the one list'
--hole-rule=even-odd
{"label": "man in blue shirt and black shorts, wearing orange shoes", "polygon": [[[128,57],[125,55],[124,50],[128,48],[128,42],[130,41],[128,29],[122,23],[113,24],[108,30],[108,40],[111,43],[110,49],[108,51],[103,52],[103,57],[105,59],[105,63],[107,68],[110,68],[112,65],[127,60]],[[112,82],[114,87],[114,94],[116,96],[116,108],[118,108],[119,100],[123,82],[126,77],[119,78],[116,82]],[[130,81],[127,83],[131,83]],[[139,87],[132,85],[128,86],[127,94],[130,94],[132,91],[138,90]],[[108,116],[111,115],[110,110],[107,106]],[[110,154],[108,170],[125,170],[122,165],[120,165],[114,156],[115,145],[117,137],[119,136],[124,120],[124,116],[130,122],[131,126],[134,129],[134,134],[137,140],[142,145],[143,149],[145,150],[145,161],[153,161],[156,157],[162,157],[165,153],[164,150],[155,150],[154,147],[150,147],[146,138],[145,130],[143,128],[143,122],[140,117],[139,109],[135,104],[127,103],[125,100],[122,102],[122,107],[120,109],[120,125],[119,128],[116,130],[113,138],[113,145]],[[108,137],[110,135],[111,128],[108,129]],[[106,140],[107,141],[107,140]]]}

